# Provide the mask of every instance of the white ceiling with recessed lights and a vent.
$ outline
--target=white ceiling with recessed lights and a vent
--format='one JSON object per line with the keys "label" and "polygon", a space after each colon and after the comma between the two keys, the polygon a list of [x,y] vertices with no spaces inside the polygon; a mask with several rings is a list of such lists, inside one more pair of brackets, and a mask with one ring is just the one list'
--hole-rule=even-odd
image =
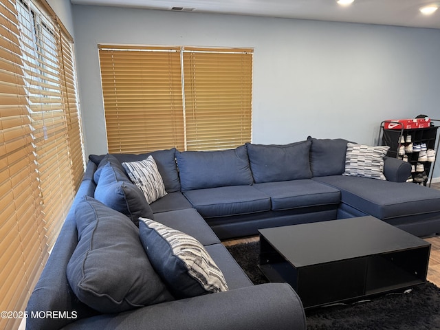
{"label": "white ceiling with recessed lights and a vent", "polygon": [[335,0],[71,0],[74,5],[109,5],[171,10],[195,8],[193,12],[217,12],[252,16],[373,23],[440,29],[440,9],[426,16],[423,5],[440,0],[355,0],[342,7]]}

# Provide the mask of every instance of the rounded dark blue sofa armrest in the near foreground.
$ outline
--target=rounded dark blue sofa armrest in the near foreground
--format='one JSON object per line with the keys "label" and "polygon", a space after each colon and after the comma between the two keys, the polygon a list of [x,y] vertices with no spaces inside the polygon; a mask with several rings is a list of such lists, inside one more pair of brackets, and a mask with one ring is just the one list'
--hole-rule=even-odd
{"label": "rounded dark blue sofa armrest in the near foreground", "polygon": [[303,304],[286,283],[267,283],[175,300],[118,315],[78,320],[64,329],[306,329]]}

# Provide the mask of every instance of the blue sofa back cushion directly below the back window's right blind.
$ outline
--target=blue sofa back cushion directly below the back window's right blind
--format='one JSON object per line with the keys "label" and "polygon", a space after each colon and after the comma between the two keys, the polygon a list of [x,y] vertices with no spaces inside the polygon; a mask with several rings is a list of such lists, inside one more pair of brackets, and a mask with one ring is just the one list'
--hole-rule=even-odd
{"label": "blue sofa back cushion directly below the back window's right blind", "polygon": [[225,151],[177,151],[176,158],[182,191],[253,183],[245,146]]}

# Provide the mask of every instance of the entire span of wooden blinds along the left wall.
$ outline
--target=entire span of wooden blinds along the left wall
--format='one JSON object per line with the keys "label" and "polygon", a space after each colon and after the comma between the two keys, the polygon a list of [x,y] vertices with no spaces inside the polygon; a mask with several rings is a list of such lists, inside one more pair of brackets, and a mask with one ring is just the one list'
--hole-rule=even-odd
{"label": "entire span of wooden blinds along the left wall", "polygon": [[[76,100],[65,73],[73,57],[61,49],[58,27],[43,11],[23,0],[0,4],[2,311],[24,311],[72,203],[72,173],[84,171],[80,131],[66,124],[67,118],[75,122],[78,109],[64,109]],[[0,329],[16,329],[19,322],[0,318]]]}

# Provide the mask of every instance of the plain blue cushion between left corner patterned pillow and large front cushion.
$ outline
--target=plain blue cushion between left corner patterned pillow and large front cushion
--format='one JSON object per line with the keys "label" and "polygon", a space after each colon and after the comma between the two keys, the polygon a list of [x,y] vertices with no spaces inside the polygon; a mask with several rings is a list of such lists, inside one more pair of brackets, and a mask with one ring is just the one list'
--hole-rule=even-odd
{"label": "plain blue cushion between left corner patterned pillow and large front cushion", "polygon": [[139,217],[154,219],[142,191],[111,162],[102,168],[94,197],[109,208],[125,214],[135,225],[139,223]]}

